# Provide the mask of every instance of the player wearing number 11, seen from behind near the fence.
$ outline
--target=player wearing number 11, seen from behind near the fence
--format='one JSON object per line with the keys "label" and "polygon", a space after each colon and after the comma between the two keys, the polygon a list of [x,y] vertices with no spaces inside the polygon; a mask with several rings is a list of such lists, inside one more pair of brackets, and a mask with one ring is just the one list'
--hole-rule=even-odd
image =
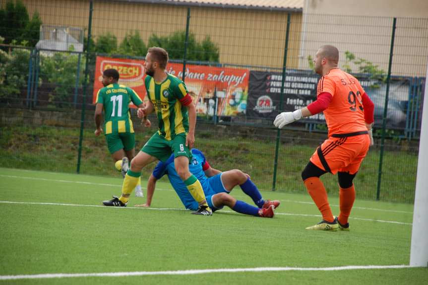
{"label": "player wearing number 11, seen from behind near the fence", "polygon": [[[112,154],[113,160],[118,163],[122,161],[122,175],[129,169],[129,161],[135,156],[135,135],[129,112],[129,103],[132,102],[138,107],[144,104],[137,93],[129,87],[121,85],[119,72],[115,69],[107,69],[103,72],[101,88],[97,93],[95,107],[95,136],[104,132],[106,135],[107,147]],[[104,110],[104,131],[101,122]],[[146,122],[150,124],[150,122]],[[140,181],[135,187],[135,196],[143,197]]]}

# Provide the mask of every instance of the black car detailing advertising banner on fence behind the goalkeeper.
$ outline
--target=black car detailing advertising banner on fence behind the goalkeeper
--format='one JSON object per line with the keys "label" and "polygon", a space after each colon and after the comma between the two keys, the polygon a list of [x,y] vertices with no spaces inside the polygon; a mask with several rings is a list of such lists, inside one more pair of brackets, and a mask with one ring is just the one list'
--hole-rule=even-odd
{"label": "black car detailing advertising banner on fence behind the goalkeeper", "polygon": [[[381,125],[385,106],[386,82],[356,74],[362,87],[374,103],[374,122]],[[285,77],[282,110],[279,110],[282,73],[251,71],[248,83],[247,117],[274,120],[279,112],[291,112],[306,107],[316,99],[319,75],[290,71]],[[391,78],[386,126],[405,128],[413,117],[409,111],[409,94],[412,87],[409,77]],[[409,118],[410,117],[410,118]],[[315,122],[324,121],[322,113],[306,118]]]}

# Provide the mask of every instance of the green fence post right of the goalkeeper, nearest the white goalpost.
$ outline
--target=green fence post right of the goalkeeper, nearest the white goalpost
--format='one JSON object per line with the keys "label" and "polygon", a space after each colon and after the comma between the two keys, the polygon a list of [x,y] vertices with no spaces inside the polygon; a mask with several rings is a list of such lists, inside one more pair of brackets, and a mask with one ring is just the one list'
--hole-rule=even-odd
{"label": "green fence post right of the goalkeeper, nearest the white goalpost", "polygon": [[391,79],[392,54],[393,54],[393,50],[394,50],[394,39],[395,39],[396,25],[397,25],[397,18],[394,18],[394,20],[392,22],[392,36],[391,36],[391,49],[389,51],[388,76],[386,77],[386,94],[385,94],[385,106],[383,108],[382,138],[380,140],[380,158],[379,158],[379,172],[377,175],[376,200],[379,200],[379,197],[380,197],[380,182],[382,180],[382,162],[383,162],[383,151],[384,151],[384,146],[385,146],[386,116],[388,115],[389,81]]}

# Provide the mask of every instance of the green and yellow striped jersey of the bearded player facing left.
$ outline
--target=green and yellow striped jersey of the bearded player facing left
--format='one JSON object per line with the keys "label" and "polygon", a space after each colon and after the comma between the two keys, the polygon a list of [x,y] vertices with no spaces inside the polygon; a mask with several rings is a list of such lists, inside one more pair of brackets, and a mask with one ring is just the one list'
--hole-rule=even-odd
{"label": "green and yellow striped jersey of the bearded player facing left", "polygon": [[189,130],[187,108],[179,101],[187,94],[184,82],[168,74],[160,83],[147,75],[144,83],[148,99],[153,103],[158,118],[159,135],[170,141],[178,134],[187,133]]}

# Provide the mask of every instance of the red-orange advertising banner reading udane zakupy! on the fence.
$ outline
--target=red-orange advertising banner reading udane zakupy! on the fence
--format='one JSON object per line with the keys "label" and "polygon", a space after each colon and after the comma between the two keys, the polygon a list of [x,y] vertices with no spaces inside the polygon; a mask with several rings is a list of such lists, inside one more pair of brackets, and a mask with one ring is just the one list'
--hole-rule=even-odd
{"label": "red-orange advertising banner reading udane zakupy! on the fence", "polygon": [[[97,57],[93,102],[103,87],[103,71],[114,68],[119,71],[119,83],[131,87],[141,99],[146,95],[143,60]],[[182,78],[183,64],[169,63],[166,71]],[[213,116],[245,114],[248,94],[249,70],[186,65],[185,84],[196,105],[196,112]]]}

